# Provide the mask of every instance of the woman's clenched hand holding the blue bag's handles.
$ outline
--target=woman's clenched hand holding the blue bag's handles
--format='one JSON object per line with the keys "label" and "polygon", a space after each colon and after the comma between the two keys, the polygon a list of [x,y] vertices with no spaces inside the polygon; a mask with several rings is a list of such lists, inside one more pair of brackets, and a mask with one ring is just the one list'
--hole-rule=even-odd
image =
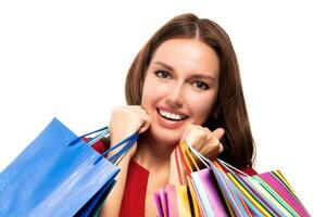
{"label": "woman's clenched hand holding the blue bag's handles", "polygon": [[[149,128],[150,123],[150,116],[139,105],[114,107],[109,124],[111,145],[116,144],[135,132],[145,132]],[[137,143],[130,148],[127,156],[131,157],[136,149]]]}

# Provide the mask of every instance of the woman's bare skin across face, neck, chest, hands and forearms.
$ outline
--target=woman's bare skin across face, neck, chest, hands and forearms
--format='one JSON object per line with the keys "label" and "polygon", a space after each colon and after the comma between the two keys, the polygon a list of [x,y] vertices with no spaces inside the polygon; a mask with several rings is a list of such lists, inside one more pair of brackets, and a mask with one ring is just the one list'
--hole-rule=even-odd
{"label": "woman's bare skin across face, neck, chest, hands and forearms", "polygon": [[[183,180],[177,178],[174,157],[179,141],[186,140],[210,158],[223,151],[220,139],[224,129],[212,132],[201,127],[216,101],[218,75],[217,55],[198,39],[171,39],[156,49],[146,73],[141,105],[115,107],[111,114],[111,144],[136,131],[141,137],[118,165],[117,184],[105,201],[102,216],[118,216],[131,158],[150,173],[146,216],[155,216],[153,192],[185,180],[185,173]],[[181,119],[168,120],[162,111]]]}

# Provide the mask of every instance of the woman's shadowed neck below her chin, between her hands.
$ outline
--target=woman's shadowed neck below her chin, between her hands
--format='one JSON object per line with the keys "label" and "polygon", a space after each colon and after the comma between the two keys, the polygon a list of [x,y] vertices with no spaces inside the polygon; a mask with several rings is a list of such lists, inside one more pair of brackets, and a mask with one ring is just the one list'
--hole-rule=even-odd
{"label": "woman's shadowed neck below her chin, between her hands", "polygon": [[137,141],[137,152],[134,159],[148,170],[160,170],[170,166],[170,157],[175,144],[156,141],[145,132]]}

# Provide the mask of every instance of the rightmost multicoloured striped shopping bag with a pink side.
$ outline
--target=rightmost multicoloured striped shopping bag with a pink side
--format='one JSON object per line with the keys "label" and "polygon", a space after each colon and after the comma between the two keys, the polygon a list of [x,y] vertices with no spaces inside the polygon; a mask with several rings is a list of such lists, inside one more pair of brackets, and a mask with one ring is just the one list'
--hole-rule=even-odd
{"label": "rightmost multicoloured striped shopping bag with a pink side", "polygon": [[214,162],[254,216],[310,216],[280,171],[248,176],[225,162]]}

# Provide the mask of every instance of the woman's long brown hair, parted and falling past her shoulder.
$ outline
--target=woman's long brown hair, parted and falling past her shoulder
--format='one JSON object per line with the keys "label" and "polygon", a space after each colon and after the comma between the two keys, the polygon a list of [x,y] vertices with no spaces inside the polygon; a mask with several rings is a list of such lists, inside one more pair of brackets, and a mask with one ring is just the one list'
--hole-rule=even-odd
{"label": "woman's long brown hair, parted and falling past her shoulder", "polygon": [[216,23],[199,18],[195,14],[181,14],[162,26],[145,44],[134,60],[125,82],[127,104],[141,103],[146,72],[156,48],[174,38],[198,38],[216,52],[220,68],[220,90],[211,116],[204,127],[211,130],[223,127],[226,131],[222,143],[224,152],[220,158],[236,166],[252,166],[254,142],[250,129],[242,92],[239,66],[231,41]]}

